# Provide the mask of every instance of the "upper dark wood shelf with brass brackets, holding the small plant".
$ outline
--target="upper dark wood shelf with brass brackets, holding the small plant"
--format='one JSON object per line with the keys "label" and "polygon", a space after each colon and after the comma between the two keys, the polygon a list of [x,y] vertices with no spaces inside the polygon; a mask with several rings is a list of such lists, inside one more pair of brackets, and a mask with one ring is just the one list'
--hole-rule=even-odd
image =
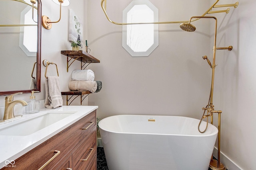
{"label": "upper dark wood shelf with brass brackets, holding the small plant", "polygon": [[[72,63],[74,63],[74,61],[80,61],[81,62],[81,70],[82,67],[84,65],[82,65],[82,63],[87,64],[86,66],[88,66],[90,63],[100,63],[100,60],[96,59],[95,57],[93,57],[92,55],[86,53],[85,51],[79,50],[79,51],[73,51],[73,50],[68,50],[68,51],[61,51],[62,55],[67,56],[67,72],[68,72],[68,68],[70,67],[70,65]],[[70,58],[70,59],[68,59]],[[70,64],[69,62],[74,59]],[[85,66],[85,67],[86,67]]]}

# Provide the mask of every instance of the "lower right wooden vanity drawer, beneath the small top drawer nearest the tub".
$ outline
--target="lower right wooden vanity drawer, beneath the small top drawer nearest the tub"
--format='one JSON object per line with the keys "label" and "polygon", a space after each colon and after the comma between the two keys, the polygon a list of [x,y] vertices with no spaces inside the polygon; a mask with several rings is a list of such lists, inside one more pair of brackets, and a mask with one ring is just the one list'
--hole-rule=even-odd
{"label": "lower right wooden vanity drawer, beneath the small top drawer nearest the tub", "polygon": [[96,155],[96,126],[78,144],[72,152],[75,170],[86,170]]}

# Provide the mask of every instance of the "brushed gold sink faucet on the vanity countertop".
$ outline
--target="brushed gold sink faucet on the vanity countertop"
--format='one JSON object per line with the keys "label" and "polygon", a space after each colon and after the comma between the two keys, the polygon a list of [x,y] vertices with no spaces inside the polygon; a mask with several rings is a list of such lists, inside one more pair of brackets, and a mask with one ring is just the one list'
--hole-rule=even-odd
{"label": "brushed gold sink faucet on the vanity countertop", "polygon": [[23,94],[23,93],[18,92],[18,93],[14,93],[10,96],[5,97],[4,117],[0,122],[16,119],[18,117],[22,117],[22,115],[15,115],[14,116],[14,111],[13,111],[14,106],[18,103],[22,104],[22,106],[26,106],[26,105],[28,105],[28,103],[24,100],[14,100],[13,101],[13,97],[16,94]]}

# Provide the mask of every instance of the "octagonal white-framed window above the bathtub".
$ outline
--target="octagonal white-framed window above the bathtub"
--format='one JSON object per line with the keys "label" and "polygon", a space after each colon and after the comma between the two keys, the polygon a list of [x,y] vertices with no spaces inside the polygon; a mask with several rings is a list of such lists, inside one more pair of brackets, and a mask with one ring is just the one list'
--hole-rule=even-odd
{"label": "octagonal white-framed window above the bathtub", "polygon": [[[122,22],[158,22],[158,9],[148,0],[134,0],[124,9]],[[122,46],[133,57],[150,55],[158,47],[158,24],[123,25]]]}

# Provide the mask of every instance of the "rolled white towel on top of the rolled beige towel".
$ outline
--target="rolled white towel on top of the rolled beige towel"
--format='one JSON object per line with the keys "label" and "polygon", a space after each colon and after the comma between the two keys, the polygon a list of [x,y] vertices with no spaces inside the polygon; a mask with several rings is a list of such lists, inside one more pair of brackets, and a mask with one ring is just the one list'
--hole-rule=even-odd
{"label": "rolled white towel on top of the rolled beige towel", "polygon": [[90,69],[88,70],[74,70],[72,72],[72,80],[82,80],[82,81],[93,81],[94,72]]}

